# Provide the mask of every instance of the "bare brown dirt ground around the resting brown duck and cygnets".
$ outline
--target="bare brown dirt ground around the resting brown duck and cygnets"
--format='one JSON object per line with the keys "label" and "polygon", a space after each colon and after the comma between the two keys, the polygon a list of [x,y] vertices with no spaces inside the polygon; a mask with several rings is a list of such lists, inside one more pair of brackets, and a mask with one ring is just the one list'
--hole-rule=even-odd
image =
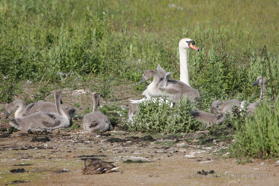
{"label": "bare brown dirt ground around the resting brown duck and cygnets", "polygon": [[[24,88],[33,90],[29,86]],[[124,108],[128,106],[127,99],[140,98],[140,93],[133,96],[131,92],[125,93],[126,88],[132,89],[115,87],[122,92],[114,99]],[[52,100],[57,90],[47,98]],[[59,91],[64,105],[73,106],[79,101],[78,112],[92,104],[90,90],[82,94],[67,88]],[[3,113],[0,128],[9,128],[9,120],[4,117]],[[50,133],[19,131],[8,135],[3,131],[0,185],[278,185],[277,159],[238,164],[236,158],[228,158],[231,140],[211,140],[210,145],[199,143],[206,133],[149,135],[122,131],[119,126],[104,133],[87,132],[82,126]],[[108,174],[83,175],[84,158],[114,162],[120,168]],[[13,169],[23,172],[12,173]]]}

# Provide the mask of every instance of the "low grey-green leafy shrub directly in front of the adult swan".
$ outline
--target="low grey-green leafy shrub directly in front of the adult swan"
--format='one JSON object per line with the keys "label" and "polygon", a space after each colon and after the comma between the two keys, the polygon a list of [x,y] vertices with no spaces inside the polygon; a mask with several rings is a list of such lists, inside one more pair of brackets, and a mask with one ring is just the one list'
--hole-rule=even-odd
{"label": "low grey-green leafy shrub directly in front of the adult swan", "polygon": [[198,129],[199,122],[190,114],[192,105],[188,99],[177,103],[177,107],[170,107],[165,98],[154,102],[146,100],[139,103],[138,107],[134,118],[136,122],[129,123],[131,131],[177,133]]}

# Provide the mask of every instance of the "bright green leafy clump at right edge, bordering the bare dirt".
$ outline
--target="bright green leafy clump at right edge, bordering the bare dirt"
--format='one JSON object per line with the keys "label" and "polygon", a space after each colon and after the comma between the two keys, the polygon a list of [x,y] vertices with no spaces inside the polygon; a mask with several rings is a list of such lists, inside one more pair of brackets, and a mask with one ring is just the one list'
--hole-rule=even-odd
{"label": "bright green leafy clump at right edge, bordering the bare dirt", "polygon": [[268,158],[279,154],[279,100],[272,105],[260,104],[254,110],[255,118],[245,118],[238,125],[232,152],[238,155]]}

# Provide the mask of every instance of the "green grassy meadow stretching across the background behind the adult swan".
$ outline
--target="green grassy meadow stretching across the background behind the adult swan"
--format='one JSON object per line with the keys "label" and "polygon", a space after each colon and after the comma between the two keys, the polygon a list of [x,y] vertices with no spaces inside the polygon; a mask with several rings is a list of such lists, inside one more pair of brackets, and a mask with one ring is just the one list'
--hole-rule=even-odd
{"label": "green grassy meadow stretching across the background behind the adult swan", "polygon": [[278,54],[276,3],[2,1],[0,75],[63,82],[109,72],[138,81],[160,62],[177,78],[177,45],[184,37],[200,48],[189,52],[190,77],[206,53],[219,50],[221,38],[236,63],[247,65],[264,45]]}

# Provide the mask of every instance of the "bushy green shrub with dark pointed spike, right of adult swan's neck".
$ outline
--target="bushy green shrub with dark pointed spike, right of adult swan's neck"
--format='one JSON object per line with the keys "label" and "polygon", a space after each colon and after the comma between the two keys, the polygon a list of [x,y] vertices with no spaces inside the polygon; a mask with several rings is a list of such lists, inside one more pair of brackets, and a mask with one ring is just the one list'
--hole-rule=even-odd
{"label": "bushy green shrub with dark pointed spike, right of adult swan's neck", "polygon": [[227,100],[243,91],[248,83],[247,69],[239,64],[236,58],[228,57],[228,53],[221,40],[218,55],[206,56],[205,63],[201,64],[201,74],[198,83],[202,90],[201,109],[209,108],[214,100]]}

